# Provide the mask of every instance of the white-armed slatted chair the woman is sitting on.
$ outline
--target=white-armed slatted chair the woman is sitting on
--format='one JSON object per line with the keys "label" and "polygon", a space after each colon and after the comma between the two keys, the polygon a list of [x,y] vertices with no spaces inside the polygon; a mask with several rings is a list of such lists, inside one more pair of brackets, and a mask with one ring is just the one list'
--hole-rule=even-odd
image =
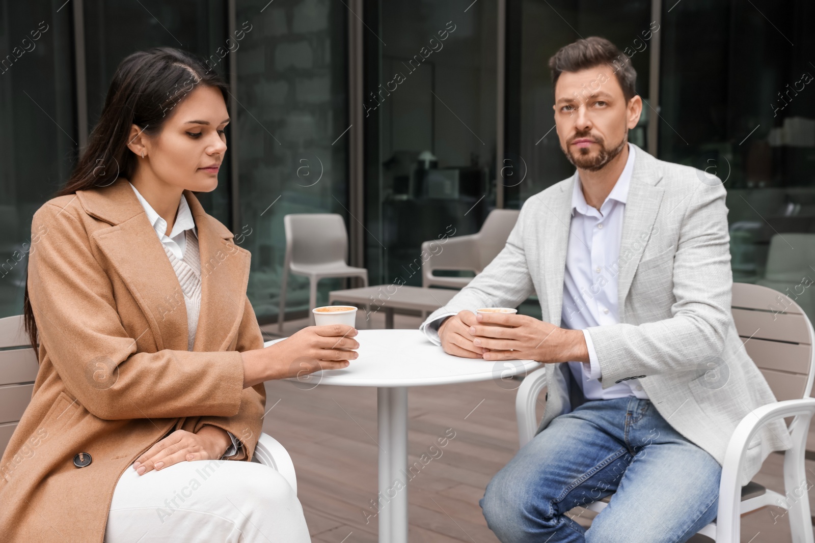
{"label": "white-armed slatted chair the woman is sitting on", "polygon": [[[0,455],[31,401],[37,370],[37,353],[24,332],[23,316],[0,318]],[[278,440],[262,433],[252,462],[278,471],[297,493],[292,458]]]}

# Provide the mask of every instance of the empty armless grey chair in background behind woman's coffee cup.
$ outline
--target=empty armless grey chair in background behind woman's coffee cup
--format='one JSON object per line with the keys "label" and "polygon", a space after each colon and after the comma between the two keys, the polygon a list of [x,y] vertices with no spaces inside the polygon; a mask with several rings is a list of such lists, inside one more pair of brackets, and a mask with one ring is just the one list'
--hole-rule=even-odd
{"label": "empty armless grey chair in background behind woman's coffee cup", "polygon": [[283,217],[286,256],[280,282],[280,312],[277,329],[283,332],[286,310],[286,283],[289,273],[309,278],[309,318],[317,307],[317,282],[323,278],[359,277],[368,287],[368,270],[348,265],[346,223],[337,213],[294,213]]}

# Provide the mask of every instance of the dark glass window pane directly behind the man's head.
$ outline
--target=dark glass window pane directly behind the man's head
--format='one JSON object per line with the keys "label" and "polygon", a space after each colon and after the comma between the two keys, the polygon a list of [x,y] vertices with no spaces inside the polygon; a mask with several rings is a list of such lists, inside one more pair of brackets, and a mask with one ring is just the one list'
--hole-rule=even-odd
{"label": "dark glass window pane directly behind the man's head", "polygon": [[[506,207],[520,208],[531,195],[575,173],[554,130],[554,93],[548,60],[562,46],[581,37],[606,37],[632,54],[637,94],[649,99],[650,39],[653,28],[649,0],[522,0],[508,2],[507,100],[505,158],[518,164],[522,182],[504,182]],[[650,107],[643,106],[640,124],[628,141],[647,149],[645,134]]]}

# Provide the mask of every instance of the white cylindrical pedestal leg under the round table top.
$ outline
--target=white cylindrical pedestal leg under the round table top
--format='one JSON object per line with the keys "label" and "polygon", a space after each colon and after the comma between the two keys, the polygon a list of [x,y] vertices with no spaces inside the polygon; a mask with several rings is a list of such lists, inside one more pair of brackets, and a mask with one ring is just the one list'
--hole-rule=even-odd
{"label": "white cylindrical pedestal leg under the round table top", "polygon": [[407,388],[377,388],[379,542],[407,543]]}

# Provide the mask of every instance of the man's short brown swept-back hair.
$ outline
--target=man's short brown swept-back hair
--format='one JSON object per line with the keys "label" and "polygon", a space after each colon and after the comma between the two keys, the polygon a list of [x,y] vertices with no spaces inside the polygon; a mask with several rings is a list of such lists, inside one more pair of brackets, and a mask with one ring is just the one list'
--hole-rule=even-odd
{"label": "man's short brown swept-back hair", "polygon": [[591,36],[577,42],[562,46],[549,59],[552,69],[552,86],[557,85],[557,78],[562,72],[579,72],[587,68],[607,65],[614,70],[626,102],[637,94],[637,71],[631,65],[631,59],[615,44],[605,37]]}

